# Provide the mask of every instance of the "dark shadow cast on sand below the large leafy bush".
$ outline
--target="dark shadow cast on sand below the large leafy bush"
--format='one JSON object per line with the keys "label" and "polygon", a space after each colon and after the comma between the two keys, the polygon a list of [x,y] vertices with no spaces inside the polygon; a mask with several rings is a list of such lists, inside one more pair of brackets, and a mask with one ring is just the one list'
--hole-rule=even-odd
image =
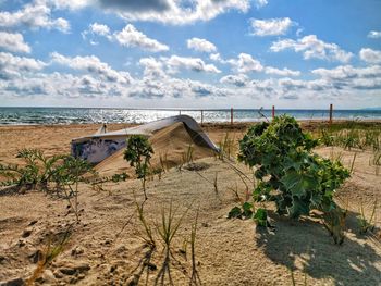
{"label": "dark shadow cast on sand below the large leafy bush", "polygon": [[334,245],[325,228],[311,219],[292,221],[274,213],[270,216],[276,222],[275,234],[257,227],[256,244],[273,262],[333,285],[381,285],[380,245],[356,237],[356,215],[348,213],[342,246]]}

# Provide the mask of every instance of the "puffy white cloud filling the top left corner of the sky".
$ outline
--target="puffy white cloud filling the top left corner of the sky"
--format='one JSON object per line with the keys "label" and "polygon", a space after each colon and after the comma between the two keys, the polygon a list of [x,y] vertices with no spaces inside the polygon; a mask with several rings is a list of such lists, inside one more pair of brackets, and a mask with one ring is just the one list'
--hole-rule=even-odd
{"label": "puffy white cloud filling the top left corner of the sky", "polygon": [[52,18],[51,9],[45,1],[35,0],[15,12],[0,12],[0,27],[11,28],[27,26],[29,28],[58,29],[69,33],[70,24],[62,17]]}

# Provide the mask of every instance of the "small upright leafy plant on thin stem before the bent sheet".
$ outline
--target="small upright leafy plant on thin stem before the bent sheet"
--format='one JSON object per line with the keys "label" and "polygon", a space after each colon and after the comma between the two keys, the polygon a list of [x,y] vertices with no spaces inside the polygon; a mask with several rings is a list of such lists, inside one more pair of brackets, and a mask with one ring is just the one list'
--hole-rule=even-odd
{"label": "small upright leafy plant on thin stem before the bent sheet", "polygon": [[124,151],[124,159],[130,162],[131,166],[135,167],[137,177],[142,179],[143,191],[146,200],[146,177],[149,173],[152,153],[153,149],[145,136],[132,135],[127,139],[127,148]]}

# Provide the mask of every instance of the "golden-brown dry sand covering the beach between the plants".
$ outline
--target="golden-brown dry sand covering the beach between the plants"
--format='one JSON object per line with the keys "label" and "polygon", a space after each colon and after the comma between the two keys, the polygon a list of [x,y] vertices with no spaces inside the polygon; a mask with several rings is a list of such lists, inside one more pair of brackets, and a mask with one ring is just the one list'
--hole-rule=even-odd
{"label": "golden-brown dry sand covering the beach between the plants", "polygon": [[[40,148],[48,154],[69,152],[71,138],[98,127],[1,126],[0,162],[17,162],[14,156],[23,147]],[[245,127],[208,125],[206,130],[218,142],[226,133],[231,138],[241,138]],[[158,164],[159,154],[167,151],[170,165],[174,165],[192,140],[176,125],[153,136],[151,142],[156,150],[153,163]],[[209,150],[194,148],[198,159],[195,162],[205,170],[172,167],[161,179],[156,176],[147,183],[144,210],[157,245],[149,264],[148,285],[155,284],[164,263],[163,246],[155,225],[160,225],[162,209],[168,210],[171,202],[176,209],[175,220],[185,213],[172,245],[170,268],[174,285],[189,285],[190,245],[185,241],[190,239],[197,210],[196,266],[202,285],[292,285],[291,270],[297,285],[304,285],[305,277],[307,285],[381,285],[380,240],[359,235],[356,221],[360,201],[369,215],[371,204],[380,198],[381,174],[377,175],[369,163],[371,151],[317,149],[328,158],[341,154],[347,166],[354,152],[358,152],[354,174],[339,191],[349,215],[344,245],[336,246],[316,215],[291,221],[271,212],[275,234],[256,228],[253,221],[228,220],[228,212],[236,206],[232,189],[244,198],[246,187],[229,163],[214,159]],[[251,178],[247,167],[234,165]],[[103,175],[121,171],[132,174],[121,152],[97,169]],[[253,187],[248,179],[246,184]],[[147,272],[140,270],[149,248],[143,239],[146,236],[137,220],[134,199],[134,194],[138,201],[143,199],[140,182],[107,183],[102,188],[94,190],[81,185],[81,223],[74,224],[62,252],[46,266],[36,284],[128,285],[134,277],[140,277],[139,285],[146,284]],[[32,276],[38,250],[44,252],[47,246],[54,246],[74,222],[74,214],[66,207],[65,200],[39,191],[0,195],[0,285]],[[273,206],[268,207],[273,210]],[[377,217],[380,226],[380,208]]]}

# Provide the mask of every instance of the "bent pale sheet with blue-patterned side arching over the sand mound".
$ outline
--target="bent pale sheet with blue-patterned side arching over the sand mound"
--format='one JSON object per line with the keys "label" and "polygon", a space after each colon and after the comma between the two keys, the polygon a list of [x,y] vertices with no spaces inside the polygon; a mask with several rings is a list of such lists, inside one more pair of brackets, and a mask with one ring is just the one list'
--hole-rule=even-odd
{"label": "bent pale sheet with blue-patterned side arching over the sand mound", "polygon": [[176,123],[184,124],[186,132],[195,144],[219,152],[219,148],[209,139],[193,117],[177,115],[115,132],[107,132],[103,125],[96,134],[73,139],[72,156],[90,163],[99,163],[118,150],[125,148],[128,136],[144,135],[150,137],[156,132]]}

